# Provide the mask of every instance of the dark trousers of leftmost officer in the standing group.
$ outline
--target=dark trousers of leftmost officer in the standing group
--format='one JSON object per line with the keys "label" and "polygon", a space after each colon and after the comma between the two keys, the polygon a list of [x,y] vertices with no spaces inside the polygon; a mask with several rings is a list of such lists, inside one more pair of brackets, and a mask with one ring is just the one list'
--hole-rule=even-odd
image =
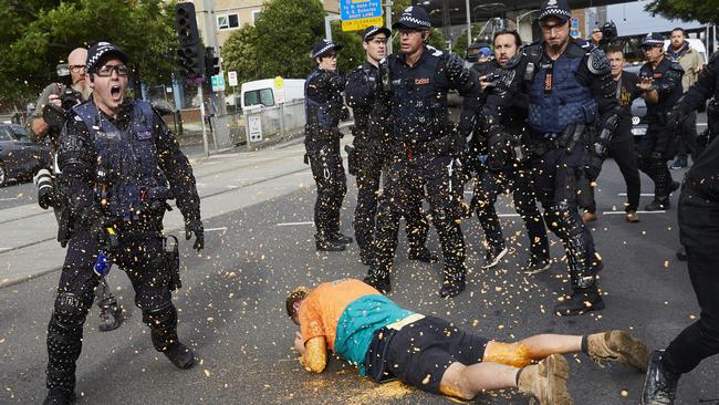
{"label": "dark trousers of leftmost officer in the standing group", "polygon": [[314,204],[314,226],[317,237],[340,232],[340,210],[347,193],[347,178],[340,155],[340,137],[305,142],[312,176],[317,185]]}

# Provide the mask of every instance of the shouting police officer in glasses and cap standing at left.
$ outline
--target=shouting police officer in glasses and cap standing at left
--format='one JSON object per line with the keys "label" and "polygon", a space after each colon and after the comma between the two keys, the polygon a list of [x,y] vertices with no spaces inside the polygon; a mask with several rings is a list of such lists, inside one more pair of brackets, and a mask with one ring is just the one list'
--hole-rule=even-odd
{"label": "shouting police officer in glasses and cap standing at left", "polygon": [[[60,139],[59,165],[67,183],[72,229],[54,310],[48,325],[45,404],[74,399],[75,362],[93,289],[107,261],[122,267],[153,345],[179,368],[195,363],[177,338],[170,289],[179,287],[179,256],[167,255],[163,216],[174,196],[186,237],[204,247],[192,169],[174,135],[149,104],[125,100],[127,55],[108,42],[92,45],[92,98],[72,113]],[[104,258],[104,260],[103,260]]]}

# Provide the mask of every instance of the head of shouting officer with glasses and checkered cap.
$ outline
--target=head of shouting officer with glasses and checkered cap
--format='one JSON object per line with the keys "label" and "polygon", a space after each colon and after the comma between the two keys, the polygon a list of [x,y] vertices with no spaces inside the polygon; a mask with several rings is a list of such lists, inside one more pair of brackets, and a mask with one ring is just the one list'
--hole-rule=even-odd
{"label": "head of shouting officer with glasses and checkered cap", "polygon": [[[95,50],[95,49],[93,49]],[[116,117],[122,110],[127,90],[127,55],[111,43],[100,43],[87,56],[87,74],[93,98],[100,110]]]}

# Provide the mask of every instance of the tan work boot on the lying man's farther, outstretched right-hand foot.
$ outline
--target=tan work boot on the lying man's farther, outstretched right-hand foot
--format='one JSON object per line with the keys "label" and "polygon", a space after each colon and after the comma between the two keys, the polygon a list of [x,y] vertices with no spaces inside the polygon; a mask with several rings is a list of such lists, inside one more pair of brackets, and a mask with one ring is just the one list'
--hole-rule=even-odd
{"label": "tan work boot on the lying man's farther, outstretched right-hand foot", "polygon": [[591,334],[586,343],[590,357],[600,365],[603,362],[619,362],[643,373],[647,371],[649,350],[644,342],[625,331]]}

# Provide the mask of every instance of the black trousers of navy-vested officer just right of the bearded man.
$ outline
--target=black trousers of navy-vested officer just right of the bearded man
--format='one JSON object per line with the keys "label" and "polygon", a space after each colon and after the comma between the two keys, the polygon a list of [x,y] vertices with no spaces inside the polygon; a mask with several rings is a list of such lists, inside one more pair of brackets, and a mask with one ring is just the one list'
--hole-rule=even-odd
{"label": "black trousers of navy-vested officer just right of the bearded man", "polygon": [[552,145],[544,149],[541,155],[532,155],[536,198],[544,208],[544,222],[564,245],[572,287],[584,288],[591,276],[590,267],[596,260],[594,239],[576,205],[577,178],[584,169],[586,152],[581,146],[571,153]]}

